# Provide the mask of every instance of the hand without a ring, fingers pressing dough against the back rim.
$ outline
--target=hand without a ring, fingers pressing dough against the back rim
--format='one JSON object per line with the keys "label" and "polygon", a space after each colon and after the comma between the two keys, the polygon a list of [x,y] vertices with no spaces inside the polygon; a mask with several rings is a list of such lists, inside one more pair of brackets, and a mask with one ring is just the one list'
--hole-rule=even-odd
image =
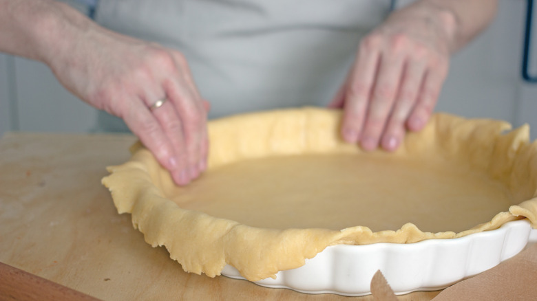
{"label": "hand without a ring, fingers pressing dough against the back rim", "polygon": [[330,107],[343,107],[341,134],[364,150],[395,150],[406,129],[428,122],[448,74],[454,19],[417,5],[394,12],[366,36]]}

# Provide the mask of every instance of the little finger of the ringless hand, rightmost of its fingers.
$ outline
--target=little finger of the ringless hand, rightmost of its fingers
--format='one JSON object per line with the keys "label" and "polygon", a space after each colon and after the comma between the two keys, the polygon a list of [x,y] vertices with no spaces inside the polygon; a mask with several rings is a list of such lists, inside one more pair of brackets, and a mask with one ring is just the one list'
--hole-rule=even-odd
{"label": "little finger of the ringless hand, rightmost of its fingers", "polygon": [[426,72],[417,103],[406,122],[410,131],[420,131],[429,121],[446,75],[447,67],[437,70],[428,69]]}

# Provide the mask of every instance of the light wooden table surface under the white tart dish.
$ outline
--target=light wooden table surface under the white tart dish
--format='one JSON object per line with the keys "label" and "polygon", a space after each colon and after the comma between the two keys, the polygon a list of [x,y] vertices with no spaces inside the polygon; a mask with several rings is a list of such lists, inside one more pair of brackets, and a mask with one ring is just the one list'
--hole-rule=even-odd
{"label": "light wooden table surface under the white tart dish", "polygon": [[145,243],[101,185],[105,167],[126,161],[134,142],[113,134],[2,137],[0,262],[102,300],[373,300],[185,273],[164,247]]}

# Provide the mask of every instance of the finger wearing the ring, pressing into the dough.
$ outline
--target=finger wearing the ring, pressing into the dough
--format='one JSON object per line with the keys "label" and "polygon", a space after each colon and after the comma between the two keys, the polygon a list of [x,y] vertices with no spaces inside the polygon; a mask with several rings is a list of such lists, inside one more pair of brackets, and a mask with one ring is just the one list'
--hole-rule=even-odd
{"label": "finger wearing the ring, pressing into the dough", "polygon": [[[150,102],[149,99],[157,100],[155,93],[148,93],[151,96],[147,96],[147,102]],[[187,185],[191,176],[189,173],[189,159],[188,154],[185,151],[185,135],[183,134],[182,123],[179,118],[179,115],[173,106],[173,103],[167,100],[161,107],[151,111],[154,115],[162,132],[167,137],[169,144],[171,145],[173,155],[177,158],[177,168],[169,170],[173,181],[179,185]]]}

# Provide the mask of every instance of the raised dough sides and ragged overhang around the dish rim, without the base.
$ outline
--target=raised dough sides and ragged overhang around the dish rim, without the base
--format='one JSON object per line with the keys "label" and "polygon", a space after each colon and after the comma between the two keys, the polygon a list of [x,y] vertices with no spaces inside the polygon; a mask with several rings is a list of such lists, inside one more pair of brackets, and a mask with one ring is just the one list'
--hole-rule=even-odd
{"label": "raised dough sides and ragged overhang around the dish rim, without the base", "polygon": [[[339,136],[341,112],[328,109],[287,109],[237,115],[209,122],[209,170],[226,164],[275,155],[356,154],[359,147]],[[136,144],[132,157],[109,166],[103,178],[118,213],[131,213],[135,228],[153,247],[165,246],[185,271],[220,275],[229,264],[244,278],[257,281],[277,271],[304,265],[330,245],[415,243],[432,238],[457,238],[494,230],[516,219],[537,226],[537,142],[529,143],[529,126],[509,131],[507,122],[464,119],[436,113],[418,133],[408,133],[393,156],[434,156],[467,162],[501,181],[518,205],[463,232],[422,232],[406,223],[397,231],[372,232],[366,225],[343,230],[319,228],[275,230],[180,208],[167,198],[173,181],[153,155]],[[378,150],[381,151],[381,150]]]}

